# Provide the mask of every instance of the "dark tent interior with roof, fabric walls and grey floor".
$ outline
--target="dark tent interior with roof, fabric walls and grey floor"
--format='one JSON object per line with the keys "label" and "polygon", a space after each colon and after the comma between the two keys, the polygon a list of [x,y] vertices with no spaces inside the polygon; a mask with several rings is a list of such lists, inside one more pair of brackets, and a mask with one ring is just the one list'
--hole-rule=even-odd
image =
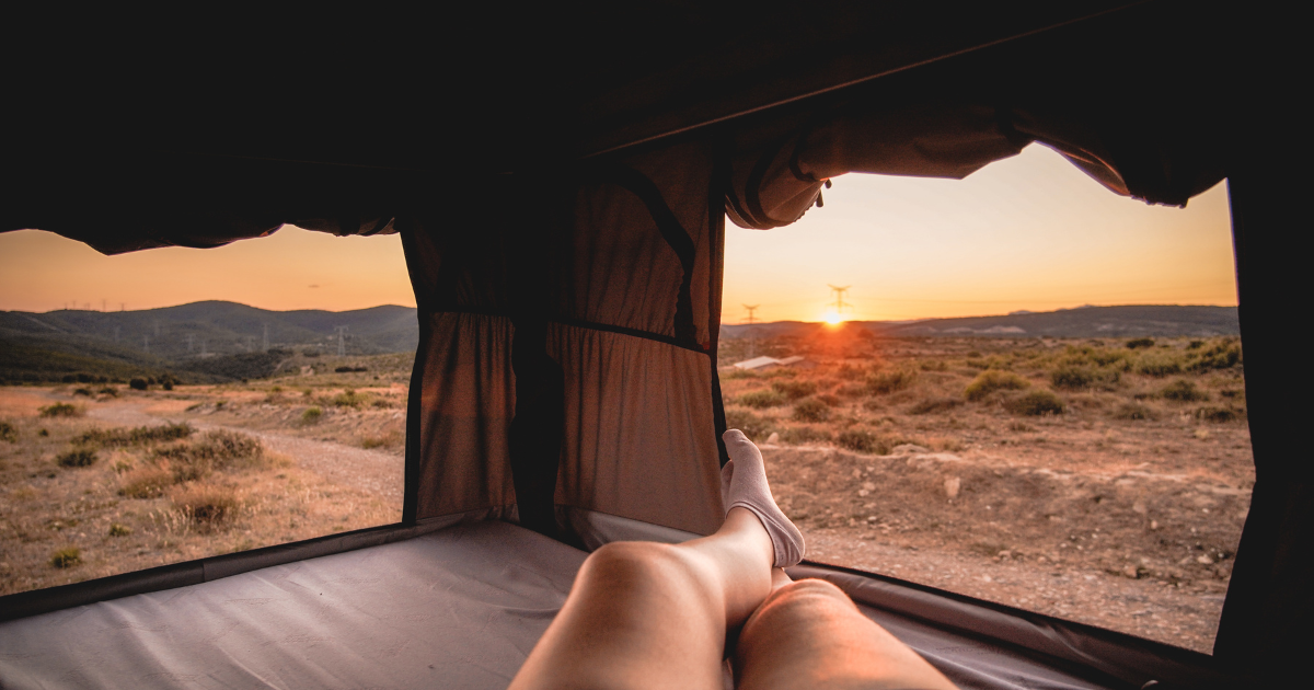
{"label": "dark tent interior with roof, fabric walls and grey floor", "polygon": [[[1252,134],[1286,131],[1284,43],[1263,9],[951,9],[653,1],[551,35],[539,17],[459,17],[477,53],[384,20],[215,42],[125,29],[64,72],[18,54],[32,108],[0,229],[104,252],[283,223],[399,233],[422,336],[401,524],[4,597],[0,639],[25,647],[0,656],[3,683],[167,686],[238,666],[305,672],[268,685],[431,683],[422,643],[464,640],[486,655],[443,657],[445,677],[505,685],[589,549],[719,524],[724,218],[779,227],[842,173],[963,177],[1031,142],[1147,202],[1229,180],[1257,478],[1214,655],[869,573],[796,574],[840,584],[963,687],[1231,686],[1294,665],[1314,614],[1307,403],[1288,394],[1309,375],[1284,364],[1300,343],[1279,311],[1302,294],[1284,233],[1297,196]],[[449,598],[407,594],[434,582]],[[223,610],[260,601],[279,603]],[[472,632],[477,616],[499,623]],[[422,643],[365,658],[325,641],[352,633]],[[143,668],[158,670],[124,676]]]}

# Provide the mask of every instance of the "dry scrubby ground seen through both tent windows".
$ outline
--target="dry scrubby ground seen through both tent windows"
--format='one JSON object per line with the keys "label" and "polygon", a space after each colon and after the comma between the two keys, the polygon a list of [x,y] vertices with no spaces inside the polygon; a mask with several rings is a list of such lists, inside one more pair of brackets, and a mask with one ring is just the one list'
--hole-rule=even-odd
{"label": "dry scrubby ground seen through both tent windows", "polygon": [[[721,384],[809,559],[1212,648],[1254,484],[1234,339],[753,347],[807,357]],[[0,388],[0,593],[397,522],[409,357],[326,364]]]}

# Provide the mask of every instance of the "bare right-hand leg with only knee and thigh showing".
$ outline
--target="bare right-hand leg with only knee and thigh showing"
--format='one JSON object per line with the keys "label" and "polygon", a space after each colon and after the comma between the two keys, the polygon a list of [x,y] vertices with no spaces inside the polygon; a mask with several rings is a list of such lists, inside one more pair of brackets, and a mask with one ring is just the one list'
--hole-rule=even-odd
{"label": "bare right-hand leg with only knee and thigh showing", "polygon": [[[824,580],[778,587],[744,623],[735,648],[740,690],[954,690],[926,660],[863,616]],[[783,584],[783,586],[781,586]]]}

